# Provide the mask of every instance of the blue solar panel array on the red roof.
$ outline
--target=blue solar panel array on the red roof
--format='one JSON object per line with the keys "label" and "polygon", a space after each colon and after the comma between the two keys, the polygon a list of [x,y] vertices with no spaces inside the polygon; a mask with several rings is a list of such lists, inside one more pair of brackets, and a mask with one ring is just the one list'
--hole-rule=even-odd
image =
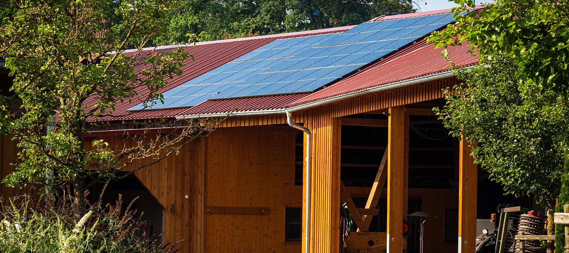
{"label": "blue solar panel array on the red roof", "polygon": [[[312,92],[453,20],[452,13],[390,19],[336,34],[274,40],[164,92],[164,104],[152,109],[190,107],[208,99]],[[143,105],[130,108],[137,109]]]}

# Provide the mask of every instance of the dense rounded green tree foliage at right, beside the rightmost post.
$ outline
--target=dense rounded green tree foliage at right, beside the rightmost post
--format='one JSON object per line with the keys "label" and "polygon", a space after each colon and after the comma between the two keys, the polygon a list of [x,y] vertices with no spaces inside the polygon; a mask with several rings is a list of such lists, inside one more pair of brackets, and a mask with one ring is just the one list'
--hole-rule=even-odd
{"label": "dense rounded green tree foliage at right, beside the rightmost post", "polygon": [[496,56],[460,71],[465,83],[447,91],[439,116],[453,136],[478,143],[476,162],[507,193],[535,194],[555,206],[567,157],[569,104],[555,92],[519,85],[513,62]]}

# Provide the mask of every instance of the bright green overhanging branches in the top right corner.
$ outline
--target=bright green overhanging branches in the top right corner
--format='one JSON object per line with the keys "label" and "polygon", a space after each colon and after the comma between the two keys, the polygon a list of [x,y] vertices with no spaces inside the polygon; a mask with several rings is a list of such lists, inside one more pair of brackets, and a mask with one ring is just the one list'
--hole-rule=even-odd
{"label": "bright green overhanging branches in the top right corner", "polygon": [[[497,0],[478,13],[472,0],[455,0],[456,22],[434,34],[439,46],[465,40],[481,60],[494,52],[509,56],[516,77],[539,88],[569,94],[569,3],[567,0]],[[469,12],[468,15],[460,13]]]}

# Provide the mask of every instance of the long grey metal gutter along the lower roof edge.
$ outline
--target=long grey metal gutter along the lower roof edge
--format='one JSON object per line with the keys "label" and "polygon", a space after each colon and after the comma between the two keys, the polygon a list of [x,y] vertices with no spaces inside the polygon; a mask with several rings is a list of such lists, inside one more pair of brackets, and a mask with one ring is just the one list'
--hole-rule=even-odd
{"label": "long grey metal gutter along the lower roof edge", "polygon": [[341,100],[351,99],[357,96],[368,95],[371,93],[381,92],[381,91],[388,91],[390,89],[396,89],[401,87],[407,87],[409,85],[415,85],[420,83],[425,83],[427,81],[436,81],[441,79],[447,79],[449,77],[453,77],[455,74],[452,70],[440,72],[437,74],[431,74],[422,77],[416,77],[409,80],[397,81],[391,84],[385,84],[378,87],[366,88],[360,91],[353,91],[348,92],[342,95],[328,97],[326,99],[312,101],[306,104],[295,105],[288,108],[281,108],[281,109],[270,109],[270,110],[255,110],[255,111],[244,111],[244,112],[234,112],[234,113],[207,113],[207,114],[200,114],[200,115],[179,115],[176,116],[177,120],[189,120],[189,119],[207,119],[212,117],[227,117],[227,116],[259,116],[259,115],[273,115],[273,114],[281,114],[286,112],[298,112],[305,109],[309,109],[312,107],[318,107],[321,105],[332,104],[339,102]]}

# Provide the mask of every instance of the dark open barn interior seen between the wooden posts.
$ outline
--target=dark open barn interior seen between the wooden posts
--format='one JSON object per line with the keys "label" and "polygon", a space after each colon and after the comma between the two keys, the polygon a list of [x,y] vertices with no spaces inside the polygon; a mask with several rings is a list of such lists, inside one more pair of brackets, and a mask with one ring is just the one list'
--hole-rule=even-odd
{"label": "dark open barn interior seen between the wooden posts", "polygon": [[[409,137],[406,139],[409,156],[406,159],[409,165],[406,169],[405,213],[422,211],[432,215],[424,222],[423,252],[453,252],[457,248],[459,140],[450,136],[450,130],[432,111],[443,105],[444,99],[406,105],[409,115]],[[387,154],[387,120],[386,110],[341,119],[340,206],[344,208],[340,207],[339,252],[386,250],[386,160],[382,160]],[[297,183],[302,183],[302,145],[303,134],[299,133],[296,140]],[[374,183],[382,187],[374,187]],[[529,205],[527,199],[504,195],[502,187],[490,181],[488,174],[480,168],[478,189],[477,219],[481,226],[488,226],[490,214],[496,213],[500,203]],[[354,214],[354,208],[357,214]],[[404,219],[409,222],[410,232],[403,240],[403,248],[405,252],[419,252],[420,218],[409,216]],[[364,228],[358,227],[358,223]]]}

